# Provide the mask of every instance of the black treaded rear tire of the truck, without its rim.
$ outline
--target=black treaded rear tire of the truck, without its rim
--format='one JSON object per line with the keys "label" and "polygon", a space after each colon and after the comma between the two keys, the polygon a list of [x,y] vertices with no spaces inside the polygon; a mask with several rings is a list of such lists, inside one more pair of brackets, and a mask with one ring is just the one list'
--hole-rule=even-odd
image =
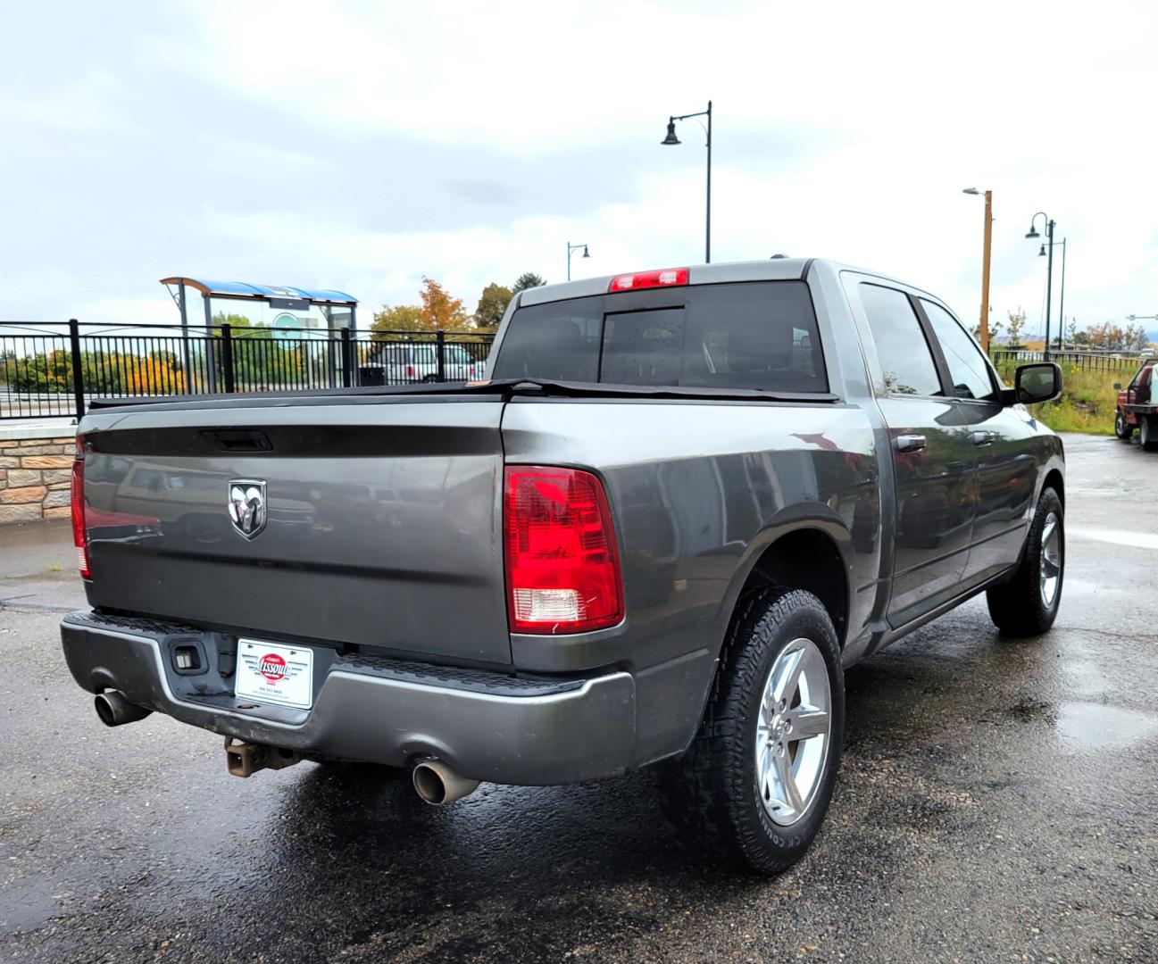
{"label": "black treaded rear tire of the truck, without its rim", "polygon": [[[780,826],[768,816],[756,786],[756,720],[771,667],[801,636],[816,645],[828,668],[831,729],[808,809],[797,823]],[[824,606],[798,589],[754,593],[732,619],[691,746],[660,775],[664,811],[695,848],[761,874],[779,874],[804,856],[824,820],[843,735],[841,648]]]}

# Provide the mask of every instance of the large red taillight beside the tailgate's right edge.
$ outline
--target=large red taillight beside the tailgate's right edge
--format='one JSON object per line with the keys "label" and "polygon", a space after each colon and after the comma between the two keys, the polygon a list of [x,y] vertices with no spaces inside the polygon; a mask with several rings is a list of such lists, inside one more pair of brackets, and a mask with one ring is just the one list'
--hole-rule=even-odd
{"label": "large red taillight beside the tailgate's right edge", "polygon": [[623,619],[611,510],[591,472],[506,470],[507,608],[513,633],[581,633]]}

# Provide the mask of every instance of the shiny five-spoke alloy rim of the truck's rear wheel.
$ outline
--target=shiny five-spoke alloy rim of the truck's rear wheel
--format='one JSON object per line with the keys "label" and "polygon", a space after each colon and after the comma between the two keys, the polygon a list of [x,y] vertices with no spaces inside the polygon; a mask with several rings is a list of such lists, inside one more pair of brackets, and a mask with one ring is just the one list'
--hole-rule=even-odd
{"label": "shiny five-spoke alloy rim of the truck's rear wheel", "polygon": [[756,788],[769,818],[797,823],[816,799],[831,741],[828,665],[816,643],[792,640],[764,680],[756,720]]}

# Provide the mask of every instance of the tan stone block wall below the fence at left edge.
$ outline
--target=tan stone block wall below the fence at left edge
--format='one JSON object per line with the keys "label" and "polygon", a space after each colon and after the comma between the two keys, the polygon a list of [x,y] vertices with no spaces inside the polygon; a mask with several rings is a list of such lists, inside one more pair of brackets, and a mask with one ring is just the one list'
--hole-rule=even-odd
{"label": "tan stone block wall below the fence at left edge", "polygon": [[71,435],[43,439],[0,435],[0,525],[68,518],[75,451],[76,442]]}

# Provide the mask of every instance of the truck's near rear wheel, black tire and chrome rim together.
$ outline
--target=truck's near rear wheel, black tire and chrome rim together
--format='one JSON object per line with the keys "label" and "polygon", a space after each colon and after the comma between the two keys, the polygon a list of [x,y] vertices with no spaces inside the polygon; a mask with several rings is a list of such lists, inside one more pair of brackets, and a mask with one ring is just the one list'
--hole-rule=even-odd
{"label": "truck's near rear wheel, black tire and chrome rim together", "polygon": [[824,820],[844,676],[831,619],[811,593],[764,590],[741,606],[699,731],[665,774],[664,803],[694,842],[778,874]]}

